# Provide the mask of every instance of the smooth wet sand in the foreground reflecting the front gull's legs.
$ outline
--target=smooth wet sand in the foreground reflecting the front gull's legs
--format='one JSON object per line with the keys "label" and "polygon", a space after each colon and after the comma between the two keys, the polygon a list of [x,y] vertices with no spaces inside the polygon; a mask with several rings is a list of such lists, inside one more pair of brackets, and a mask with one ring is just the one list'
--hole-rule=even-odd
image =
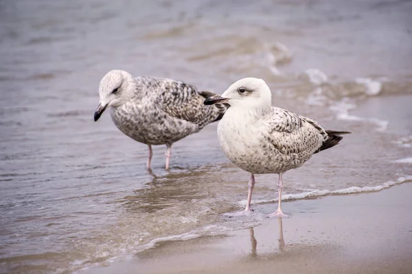
{"label": "smooth wet sand in the foreground reflecting the front gull's legs", "polygon": [[[290,219],[166,241],[87,273],[412,273],[412,184],[284,203]],[[269,213],[275,205],[254,206]]]}

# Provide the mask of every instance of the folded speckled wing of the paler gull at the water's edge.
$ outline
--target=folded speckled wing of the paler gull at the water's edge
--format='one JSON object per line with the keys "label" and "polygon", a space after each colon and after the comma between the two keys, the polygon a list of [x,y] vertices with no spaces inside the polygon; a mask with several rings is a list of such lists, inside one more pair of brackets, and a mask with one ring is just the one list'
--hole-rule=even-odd
{"label": "folded speckled wing of the paler gull at the water's edge", "polygon": [[286,155],[312,155],[328,138],[316,121],[282,108],[273,108],[266,127],[268,140],[277,151]]}

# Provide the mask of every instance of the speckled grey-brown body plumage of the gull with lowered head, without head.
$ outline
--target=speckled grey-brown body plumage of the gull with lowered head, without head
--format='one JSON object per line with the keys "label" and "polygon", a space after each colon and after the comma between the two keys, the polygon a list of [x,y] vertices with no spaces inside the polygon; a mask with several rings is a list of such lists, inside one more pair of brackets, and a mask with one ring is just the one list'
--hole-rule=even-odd
{"label": "speckled grey-brown body plumage of the gull with lowered head, without head", "polygon": [[172,144],[214,122],[225,108],[203,105],[194,86],[172,79],[135,78],[135,96],[111,108],[124,134],[146,145]]}

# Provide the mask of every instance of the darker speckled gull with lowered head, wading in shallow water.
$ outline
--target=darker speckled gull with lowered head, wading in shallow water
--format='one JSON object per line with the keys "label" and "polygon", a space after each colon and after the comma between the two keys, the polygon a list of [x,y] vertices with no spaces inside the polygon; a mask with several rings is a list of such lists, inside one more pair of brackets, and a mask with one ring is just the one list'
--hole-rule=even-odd
{"label": "darker speckled gull with lowered head, wading in shallow water", "polygon": [[204,105],[213,92],[198,92],[181,81],[156,77],[132,77],[122,70],[109,71],[100,81],[100,102],[94,113],[98,121],[111,107],[111,118],[126,136],[148,145],[146,168],[151,169],[152,145],[166,145],[165,169],[170,168],[172,144],[218,121],[227,103]]}

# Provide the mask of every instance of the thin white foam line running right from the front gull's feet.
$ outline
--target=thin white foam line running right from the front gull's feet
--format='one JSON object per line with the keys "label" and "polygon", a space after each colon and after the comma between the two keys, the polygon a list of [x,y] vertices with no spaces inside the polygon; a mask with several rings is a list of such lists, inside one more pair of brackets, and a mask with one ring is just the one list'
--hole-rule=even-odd
{"label": "thin white foam line running right from the front gull's feet", "polygon": [[[410,158],[412,161],[412,158]],[[356,193],[363,193],[363,192],[376,192],[386,188],[390,188],[391,186],[395,186],[398,184],[402,184],[404,182],[412,181],[412,176],[407,175],[404,177],[399,177],[396,181],[389,181],[378,186],[352,186],[350,188],[343,188],[339,190],[311,190],[308,192],[301,192],[297,194],[285,194],[282,195],[282,201],[288,200],[301,200],[310,197],[321,197],[321,196],[328,196],[328,195],[348,195],[348,194],[356,194]],[[253,204],[260,204],[260,203],[273,203],[278,199],[270,199],[270,200],[253,200]],[[238,204],[240,206],[246,206],[246,200],[239,201]]]}

